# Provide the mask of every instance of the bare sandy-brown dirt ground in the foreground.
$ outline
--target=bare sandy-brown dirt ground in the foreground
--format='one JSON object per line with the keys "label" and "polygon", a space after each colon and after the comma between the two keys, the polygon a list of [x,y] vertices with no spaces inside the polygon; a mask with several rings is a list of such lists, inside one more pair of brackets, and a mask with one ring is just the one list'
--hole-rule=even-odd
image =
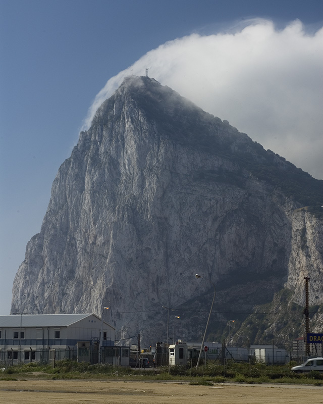
{"label": "bare sandy-brown dirt ground in the foreground", "polygon": [[0,380],[1,404],[310,404],[323,387],[73,380]]}

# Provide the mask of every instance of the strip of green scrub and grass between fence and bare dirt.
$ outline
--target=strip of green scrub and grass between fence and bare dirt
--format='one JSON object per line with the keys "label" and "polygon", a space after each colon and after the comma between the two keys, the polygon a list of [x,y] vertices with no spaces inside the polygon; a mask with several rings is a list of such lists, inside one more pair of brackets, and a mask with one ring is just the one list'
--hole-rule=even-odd
{"label": "strip of green scrub and grass between fence and bare dirt", "polygon": [[[11,375],[11,376],[8,376]],[[37,363],[11,366],[0,373],[0,380],[8,377],[52,378],[52,379],[140,379],[140,380],[178,380],[207,383],[312,383],[323,384],[323,373],[309,372],[295,374],[290,371],[290,365],[265,366],[264,364],[245,364],[228,361],[225,366],[220,363],[209,363],[206,366],[195,367],[165,366],[154,369],[134,370],[132,368],[115,367],[106,364],[91,365],[75,361],[57,361],[56,367],[41,366]],[[193,383],[194,384],[194,383]]]}

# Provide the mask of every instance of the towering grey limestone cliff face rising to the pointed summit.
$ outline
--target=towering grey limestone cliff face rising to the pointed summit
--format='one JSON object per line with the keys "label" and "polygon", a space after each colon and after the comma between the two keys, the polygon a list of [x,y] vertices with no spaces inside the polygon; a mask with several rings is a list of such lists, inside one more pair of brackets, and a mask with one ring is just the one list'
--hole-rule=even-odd
{"label": "towering grey limestone cliff face rising to the pointed summit", "polygon": [[105,320],[121,337],[152,344],[166,339],[163,305],[181,314],[175,338],[200,338],[207,279],[218,292],[213,328],[284,284],[301,301],[305,273],[322,303],[322,221],[263,179],[268,165],[277,178],[296,170],[170,88],[128,78],[58,171],[12,311],[100,315],[109,306]]}

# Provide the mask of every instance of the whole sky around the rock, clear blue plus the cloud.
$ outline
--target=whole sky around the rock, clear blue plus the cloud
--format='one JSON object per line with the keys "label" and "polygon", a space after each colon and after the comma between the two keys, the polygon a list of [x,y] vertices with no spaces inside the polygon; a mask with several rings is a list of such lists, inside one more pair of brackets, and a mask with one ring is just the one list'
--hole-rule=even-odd
{"label": "whole sky around the rock, clear blue plus the cloud", "polygon": [[[70,156],[89,108],[105,85],[103,97],[109,95],[130,71],[144,75],[144,67],[149,67],[151,75],[161,84],[170,85],[208,112],[229,120],[254,140],[265,143],[265,148],[271,148],[314,177],[323,178],[323,168],[315,157],[315,149],[321,151],[321,143],[315,137],[318,124],[316,127],[313,123],[319,121],[319,116],[311,107],[311,103],[322,107],[315,87],[322,88],[322,74],[318,70],[323,44],[321,42],[319,51],[319,38],[313,38],[323,26],[322,0],[0,0],[0,18],[0,314],[10,312],[12,282],[24,260],[26,244],[40,231],[51,183],[59,166]],[[299,20],[300,25],[294,24],[286,29],[295,20]],[[270,26],[271,21],[273,26]],[[249,31],[239,34],[249,25]],[[212,72],[208,72],[208,66],[213,62],[197,56],[196,49],[202,49],[202,52],[204,46],[207,49],[209,44],[205,43],[205,38],[210,38],[211,46],[222,52],[222,39],[214,36],[219,33],[229,33],[228,37],[222,37],[229,40],[225,46],[227,53],[223,56],[228,63],[223,67],[223,77],[227,78],[226,83],[234,82],[232,77],[237,80],[234,89],[227,87],[225,81],[223,87],[226,88],[216,88],[217,93],[222,94],[222,104],[214,103],[212,94],[207,97],[207,86],[203,87],[205,82],[190,79],[195,75],[207,76],[208,81],[211,80]],[[183,37],[186,39],[180,39]],[[279,116],[275,118],[276,129],[268,123],[268,131],[260,133],[265,120],[264,111],[268,111],[268,105],[271,105],[266,104],[265,97],[258,102],[257,108],[250,104],[249,109],[253,111],[260,110],[264,104],[260,115],[251,114],[248,118],[256,123],[258,120],[254,126],[248,126],[236,114],[239,108],[235,99],[250,87],[248,80],[254,74],[245,63],[240,66],[239,61],[244,62],[244,49],[250,48],[248,41],[256,46],[262,37],[260,47],[263,49],[270,49],[275,43],[285,43],[279,52],[277,47],[280,45],[276,46],[277,61],[271,70],[266,71],[266,77],[272,75],[272,80],[279,84],[278,92],[285,91],[286,78],[279,82],[281,72],[291,69],[290,64],[300,66],[298,70],[292,69],[291,83],[285,91],[289,98],[286,99],[289,108],[297,110],[300,106],[295,103],[294,107],[291,99],[297,99],[295,94],[298,94],[305,100],[302,110],[308,108],[308,111],[304,117],[300,116],[300,122],[296,122],[292,115],[289,117],[287,110],[284,117],[288,117],[288,126],[295,125],[295,133],[296,126],[300,131],[312,131],[305,145],[296,135],[293,138],[293,133],[288,132],[287,124],[284,126],[280,122],[283,118]],[[293,43],[294,37],[294,43],[299,43],[295,46],[297,49],[287,45]],[[286,42],[284,38],[287,38]],[[164,50],[158,48],[166,42]],[[299,48],[302,49],[300,53]],[[145,56],[152,49],[157,51]],[[181,59],[184,50],[185,56]],[[156,62],[163,58],[163,52],[167,52],[176,73],[175,69],[171,71],[170,67]],[[286,53],[290,55],[285,60]],[[230,59],[230,55],[236,58]],[[257,55],[255,66],[261,66],[266,59]],[[283,55],[284,63],[281,70],[277,70],[280,55]],[[195,66],[191,62],[194,58],[204,61],[204,65]],[[239,74],[244,74],[239,76],[237,71],[232,71],[232,66],[239,69]],[[118,79],[108,81],[114,76]],[[308,76],[311,81],[305,79]],[[303,83],[303,80],[305,84],[299,86],[302,90],[298,88],[294,93],[297,83]],[[245,88],[240,87],[242,81],[246,83]],[[228,94],[231,94],[231,101]],[[269,98],[270,94],[267,96]],[[284,99],[284,96],[284,93],[279,93],[279,98]],[[202,100],[208,98],[209,104],[201,105]],[[101,98],[96,100],[100,102]],[[232,110],[230,103],[234,106]],[[247,99],[243,104],[248,106],[248,103]],[[277,139],[273,134],[275,130],[277,133],[286,130],[286,136]],[[319,137],[322,137],[321,133]],[[293,150],[288,146],[291,143],[295,144]],[[307,144],[312,144],[313,149]],[[305,154],[306,160],[298,160],[301,154]]]}

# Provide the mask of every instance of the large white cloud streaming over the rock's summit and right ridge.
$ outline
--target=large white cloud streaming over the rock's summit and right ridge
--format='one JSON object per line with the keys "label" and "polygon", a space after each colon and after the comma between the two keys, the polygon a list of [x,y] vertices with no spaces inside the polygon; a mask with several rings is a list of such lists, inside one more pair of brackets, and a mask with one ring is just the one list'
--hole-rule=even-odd
{"label": "large white cloud streaming over the rock's summit and right ridge", "polygon": [[306,33],[251,20],[235,32],[192,34],[160,45],[107,81],[85,126],[131,74],[149,76],[323,179],[323,28]]}

